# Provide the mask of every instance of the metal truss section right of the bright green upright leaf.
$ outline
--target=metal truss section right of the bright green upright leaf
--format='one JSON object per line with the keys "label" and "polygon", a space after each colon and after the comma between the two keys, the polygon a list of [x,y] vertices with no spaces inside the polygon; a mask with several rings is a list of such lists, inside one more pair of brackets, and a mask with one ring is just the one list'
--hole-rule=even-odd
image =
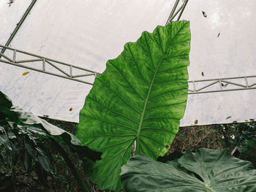
{"label": "metal truss section right of the bright green upright leaf", "polygon": [[188,81],[188,94],[256,89],[256,76]]}

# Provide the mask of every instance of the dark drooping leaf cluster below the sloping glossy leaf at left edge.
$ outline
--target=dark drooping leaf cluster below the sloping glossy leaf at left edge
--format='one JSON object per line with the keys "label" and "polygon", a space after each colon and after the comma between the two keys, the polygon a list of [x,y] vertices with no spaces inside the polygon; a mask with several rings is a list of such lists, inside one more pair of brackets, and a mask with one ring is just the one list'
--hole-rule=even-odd
{"label": "dark drooping leaf cluster below the sloping glossy leaf at left edge", "polygon": [[[38,133],[47,136],[45,131],[34,126],[18,125],[7,121],[3,114],[0,120],[0,167],[12,170],[12,183],[15,184],[15,166],[23,163],[26,172],[37,173],[39,180],[46,183],[49,174],[56,173],[56,164],[45,140]],[[48,140],[48,142],[50,142]],[[2,178],[4,179],[4,177]],[[1,180],[1,178],[0,178]],[[0,182],[1,183],[1,182]]]}

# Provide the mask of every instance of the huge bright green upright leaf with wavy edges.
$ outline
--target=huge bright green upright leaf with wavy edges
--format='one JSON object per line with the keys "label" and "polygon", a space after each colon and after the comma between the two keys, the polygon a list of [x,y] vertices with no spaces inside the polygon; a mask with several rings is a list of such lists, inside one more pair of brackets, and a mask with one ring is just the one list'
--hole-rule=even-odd
{"label": "huge bright green upright leaf with wavy edges", "polygon": [[99,188],[121,188],[121,166],[131,156],[164,155],[178,131],[187,101],[189,21],[157,26],[124,45],[109,60],[83,109],[77,137],[103,152],[89,172]]}

